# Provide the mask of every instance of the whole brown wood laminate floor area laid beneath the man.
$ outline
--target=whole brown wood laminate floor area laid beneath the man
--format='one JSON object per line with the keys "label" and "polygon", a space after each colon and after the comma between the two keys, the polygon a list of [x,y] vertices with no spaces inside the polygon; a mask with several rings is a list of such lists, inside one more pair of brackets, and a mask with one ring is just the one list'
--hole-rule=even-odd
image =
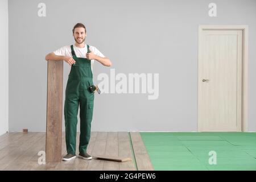
{"label": "whole brown wood laminate floor area laid beneath the man", "polygon": [[[79,133],[77,133],[77,150]],[[62,137],[62,155],[66,154],[65,133]],[[92,132],[87,152],[90,155],[130,157],[127,162],[83,160],[38,164],[39,151],[46,150],[46,133],[7,133],[0,136],[0,170],[154,170],[137,132]]]}

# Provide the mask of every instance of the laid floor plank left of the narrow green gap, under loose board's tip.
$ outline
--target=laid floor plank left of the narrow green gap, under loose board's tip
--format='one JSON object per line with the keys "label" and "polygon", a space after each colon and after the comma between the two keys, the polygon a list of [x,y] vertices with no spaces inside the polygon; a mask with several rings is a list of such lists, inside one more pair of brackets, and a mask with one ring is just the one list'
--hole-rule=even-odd
{"label": "laid floor plank left of the narrow green gap, under loose board's tip", "polygon": [[[133,159],[131,153],[130,139],[127,132],[118,132],[118,152],[120,157],[129,157]],[[134,159],[119,163],[120,171],[135,171]]]}

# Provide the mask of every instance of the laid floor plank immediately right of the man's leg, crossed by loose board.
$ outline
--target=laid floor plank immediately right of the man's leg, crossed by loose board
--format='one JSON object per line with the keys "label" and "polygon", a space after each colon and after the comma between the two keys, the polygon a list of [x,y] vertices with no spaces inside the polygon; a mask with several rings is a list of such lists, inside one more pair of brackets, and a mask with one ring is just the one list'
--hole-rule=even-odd
{"label": "laid floor plank immediately right of the man's leg, crossed by loose board", "polygon": [[[108,137],[107,132],[98,132],[96,141],[94,143],[94,147],[91,155],[104,155],[106,151],[106,139]],[[103,160],[92,159],[89,161],[88,170],[97,170],[102,171],[104,167]]]}

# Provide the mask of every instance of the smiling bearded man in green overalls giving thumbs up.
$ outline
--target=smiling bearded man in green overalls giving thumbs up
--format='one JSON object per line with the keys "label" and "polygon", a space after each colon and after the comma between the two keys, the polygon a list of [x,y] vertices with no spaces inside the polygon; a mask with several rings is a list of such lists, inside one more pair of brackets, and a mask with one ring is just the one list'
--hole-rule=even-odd
{"label": "smiling bearded man in green overalls giving thumbs up", "polygon": [[76,127],[77,112],[80,105],[80,139],[79,158],[92,159],[86,153],[90,140],[90,126],[93,115],[94,92],[89,87],[93,85],[92,68],[94,60],[106,67],[112,65],[108,57],[105,57],[96,47],[85,44],[86,28],[84,24],[77,23],[73,28],[75,45],[64,46],[46,55],[46,60],[64,60],[71,65],[65,90],[65,134],[67,155],[64,161],[76,158]]}

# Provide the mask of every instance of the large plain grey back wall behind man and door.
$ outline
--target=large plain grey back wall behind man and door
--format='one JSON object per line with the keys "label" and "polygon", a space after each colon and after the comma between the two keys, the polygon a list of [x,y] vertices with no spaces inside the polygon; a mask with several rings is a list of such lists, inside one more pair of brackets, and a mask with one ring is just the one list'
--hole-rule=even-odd
{"label": "large plain grey back wall behind man and door", "polygon": [[[38,3],[46,3],[46,17]],[[217,4],[217,17],[208,5]],[[9,0],[10,130],[46,130],[44,56],[73,44],[72,27],[113,61],[116,73],[159,73],[159,98],[96,95],[93,131],[197,131],[197,30],[200,24],[249,26],[249,131],[256,131],[256,1]],[[64,88],[69,66],[64,65]],[[110,68],[94,65],[97,75]],[[63,92],[64,93],[64,92]],[[64,122],[64,121],[63,121]]]}

